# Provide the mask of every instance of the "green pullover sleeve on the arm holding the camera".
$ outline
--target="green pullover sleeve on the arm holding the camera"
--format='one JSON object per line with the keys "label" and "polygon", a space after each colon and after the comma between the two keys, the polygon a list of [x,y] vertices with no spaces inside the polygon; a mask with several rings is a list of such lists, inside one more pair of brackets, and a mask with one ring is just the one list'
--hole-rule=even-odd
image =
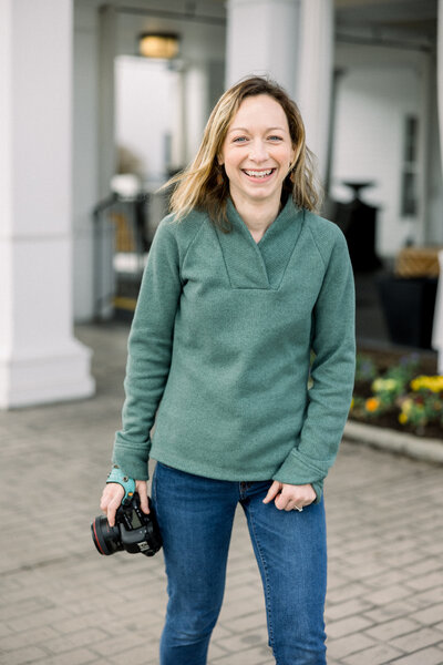
{"label": "green pullover sleeve on the arm holding the camera", "polygon": [[154,236],[127,342],[122,429],[115,434],[112,461],[136,480],[148,478],[150,430],[169,372],[182,293],[172,224],[163,219]]}

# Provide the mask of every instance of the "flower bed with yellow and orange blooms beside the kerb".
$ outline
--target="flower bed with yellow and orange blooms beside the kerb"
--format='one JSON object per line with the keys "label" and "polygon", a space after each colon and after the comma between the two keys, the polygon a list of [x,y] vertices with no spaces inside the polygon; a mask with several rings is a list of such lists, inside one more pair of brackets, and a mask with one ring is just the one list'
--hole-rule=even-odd
{"label": "flower bed with yellow and orange blooms beside the kerb", "polygon": [[443,376],[432,369],[418,354],[360,351],[350,419],[443,442]]}

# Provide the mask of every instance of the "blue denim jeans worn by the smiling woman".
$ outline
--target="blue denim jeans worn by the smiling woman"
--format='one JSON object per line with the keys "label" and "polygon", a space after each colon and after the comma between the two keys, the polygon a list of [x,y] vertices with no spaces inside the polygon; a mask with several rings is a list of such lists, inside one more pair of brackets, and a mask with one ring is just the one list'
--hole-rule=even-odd
{"label": "blue denim jeans worn by the smiling woman", "polygon": [[277,665],[326,665],[322,501],[297,511],[262,503],[271,481],[212,480],[157,462],[152,499],[163,536],[168,605],[161,665],[205,665],[225,590],[240,502],[265,590]]}

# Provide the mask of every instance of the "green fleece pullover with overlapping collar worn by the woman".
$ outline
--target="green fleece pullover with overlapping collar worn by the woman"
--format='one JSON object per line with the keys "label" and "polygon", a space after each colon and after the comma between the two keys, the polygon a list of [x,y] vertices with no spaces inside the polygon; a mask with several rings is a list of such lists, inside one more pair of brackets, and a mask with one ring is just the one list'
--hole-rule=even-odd
{"label": "green fleece pullover with overlapping collar worn by the woman", "polygon": [[353,388],[347,243],[291,198],[259,243],[230,201],[227,215],[229,233],[203,212],[158,226],[113,461],[140,480],[151,456],[207,478],[312,483],[319,501]]}

